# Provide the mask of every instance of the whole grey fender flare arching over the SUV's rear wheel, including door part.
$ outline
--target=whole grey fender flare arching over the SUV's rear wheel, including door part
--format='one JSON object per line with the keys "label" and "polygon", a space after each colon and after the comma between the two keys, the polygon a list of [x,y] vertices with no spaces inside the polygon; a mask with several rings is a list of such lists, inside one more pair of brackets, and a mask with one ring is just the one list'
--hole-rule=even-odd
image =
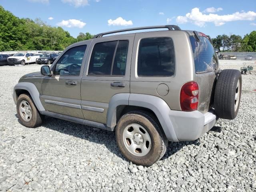
{"label": "whole grey fender flare arching over the SUV's rear wheel, including door part", "polygon": [[114,130],[116,126],[116,108],[120,105],[138,106],[152,110],[158,118],[164,134],[170,141],[178,142],[174,126],[170,119],[168,104],[160,97],[146,94],[122,93],[114,95],[108,105],[107,126]]}

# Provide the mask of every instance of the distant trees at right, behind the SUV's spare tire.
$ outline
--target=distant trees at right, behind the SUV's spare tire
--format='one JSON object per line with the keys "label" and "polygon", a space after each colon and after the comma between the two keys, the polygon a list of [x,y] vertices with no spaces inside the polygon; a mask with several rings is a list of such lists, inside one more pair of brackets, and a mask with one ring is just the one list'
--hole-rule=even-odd
{"label": "distant trees at right, behind the SUV's spare tire", "polygon": [[212,38],[212,44],[219,51],[256,52],[256,31],[246,34],[244,38],[234,34],[218,35]]}

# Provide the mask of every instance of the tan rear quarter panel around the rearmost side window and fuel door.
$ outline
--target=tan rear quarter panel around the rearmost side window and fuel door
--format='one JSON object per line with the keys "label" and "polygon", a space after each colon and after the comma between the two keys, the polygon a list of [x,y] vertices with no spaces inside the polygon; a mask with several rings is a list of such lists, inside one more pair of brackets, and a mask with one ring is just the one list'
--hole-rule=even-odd
{"label": "tan rear quarter panel around the rearmost side window and fuel door", "polygon": [[[170,37],[174,44],[175,72],[170,77],[141,77],[137,75],[138,48],[142,38]],[[180,108],[180,89],[186,82],[195,80],[195,69],[188,34],[184,31],[157,31],[136,34],[132,52],[130,92],[162,98],[172,110]],[[160,96],[158,85],[166,84],[168,94]]]}

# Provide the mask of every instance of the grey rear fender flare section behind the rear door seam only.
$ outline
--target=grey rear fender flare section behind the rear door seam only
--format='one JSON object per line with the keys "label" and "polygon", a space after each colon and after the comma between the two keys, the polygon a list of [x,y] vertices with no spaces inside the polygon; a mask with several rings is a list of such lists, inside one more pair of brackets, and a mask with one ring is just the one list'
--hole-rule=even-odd
{"label": "grey rear fender flare section behind the rear door seam only", "polygon": [[158,118],[169,141],[178,142],[174,127],[169,117],[170,107],[157,96],[145,94],[130,94],[129,105],[140,106],[152,110]]}

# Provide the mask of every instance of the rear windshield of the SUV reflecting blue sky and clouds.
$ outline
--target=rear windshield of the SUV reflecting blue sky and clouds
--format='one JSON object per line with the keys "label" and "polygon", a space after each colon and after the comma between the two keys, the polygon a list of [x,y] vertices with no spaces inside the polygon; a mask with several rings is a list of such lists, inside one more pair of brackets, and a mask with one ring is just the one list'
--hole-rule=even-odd
{"label": "rear windshield of the SUV reflecting blue sky and clouds", "polygon": [[208,38],[199,36],[198,42],[190,36],[196,73],[210,72],[217,68],[218,59],[215,50]]}

